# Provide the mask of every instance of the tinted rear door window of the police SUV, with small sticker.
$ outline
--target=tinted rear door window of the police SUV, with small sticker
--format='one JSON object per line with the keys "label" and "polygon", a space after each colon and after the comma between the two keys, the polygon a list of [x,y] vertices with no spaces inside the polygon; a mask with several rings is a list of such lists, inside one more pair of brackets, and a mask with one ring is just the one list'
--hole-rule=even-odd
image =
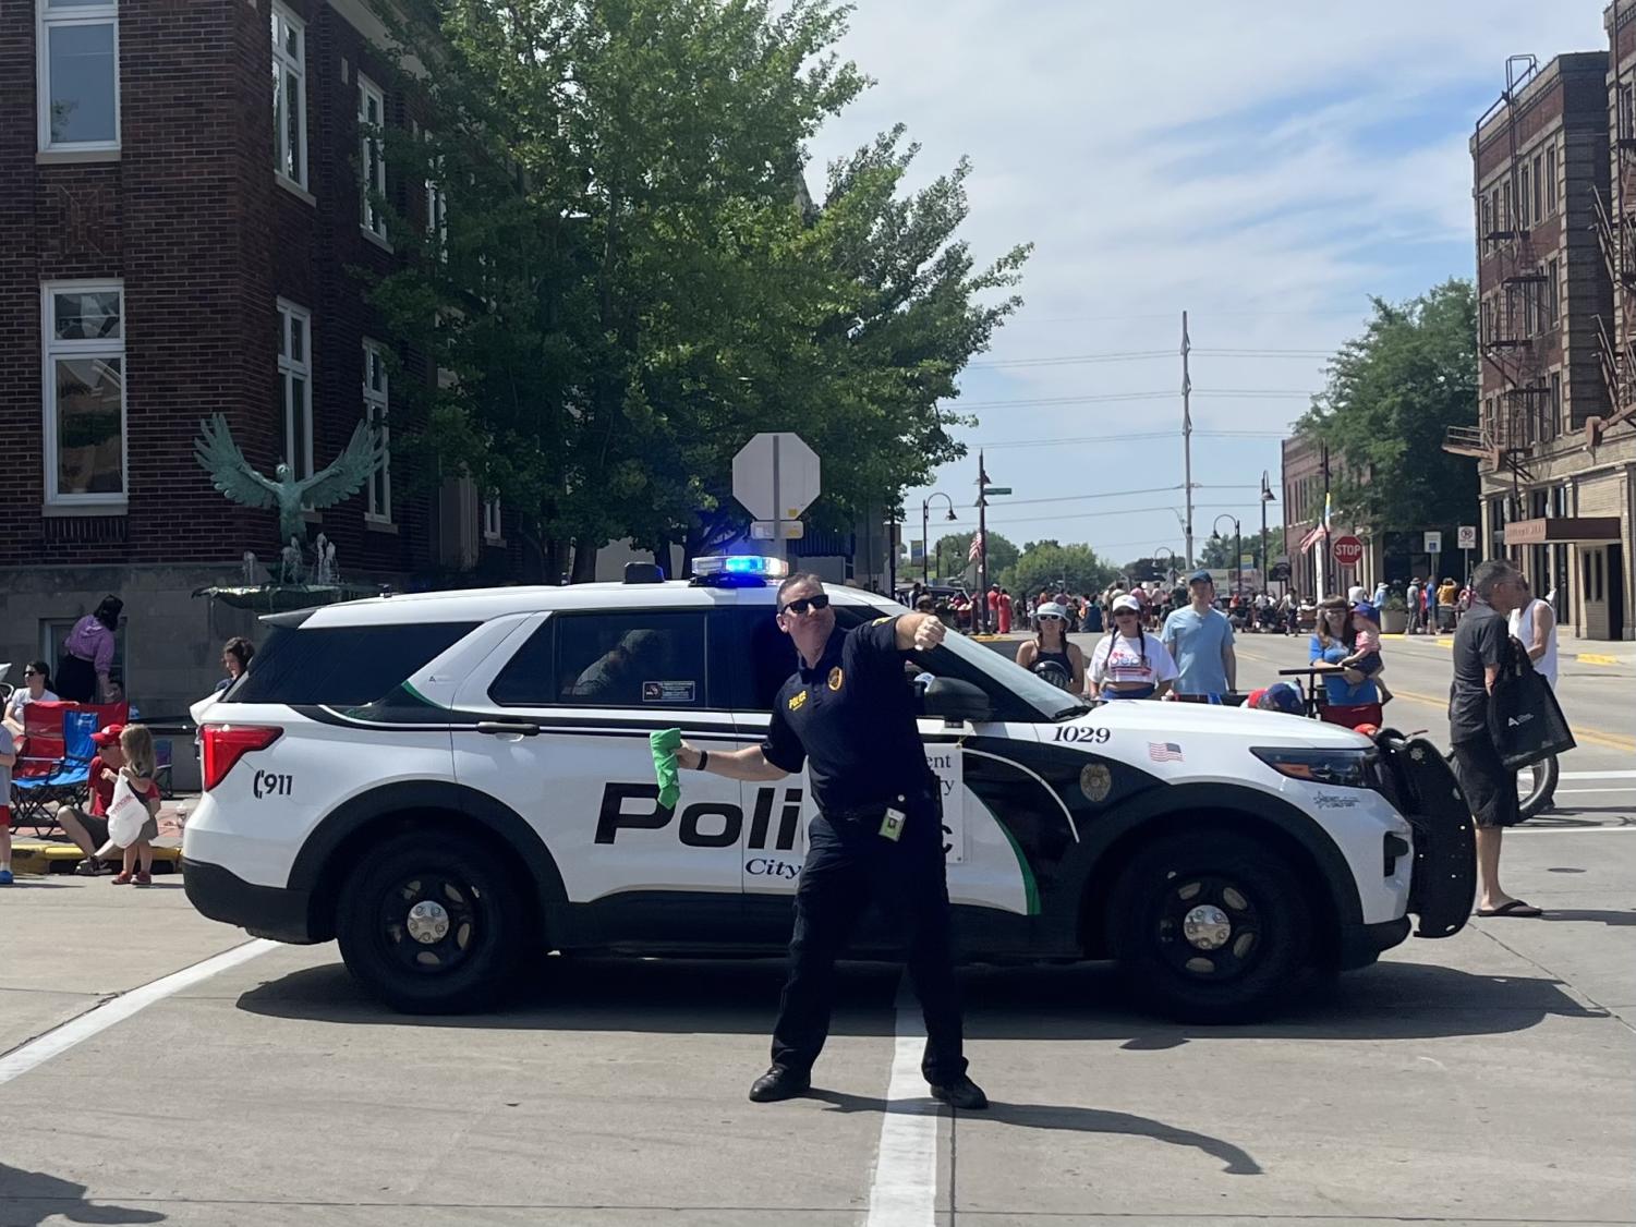
{"label": "tinted rear door window of the police SUV, with small sticker", "polygon": [[703,708],[703,610],[558,614],[501,669],[506,707]]}

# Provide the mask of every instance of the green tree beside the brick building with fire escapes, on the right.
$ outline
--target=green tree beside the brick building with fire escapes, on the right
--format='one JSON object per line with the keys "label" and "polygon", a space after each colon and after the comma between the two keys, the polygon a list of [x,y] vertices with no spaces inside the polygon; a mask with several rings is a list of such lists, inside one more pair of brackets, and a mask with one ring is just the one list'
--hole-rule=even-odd
{"label": "green tree beside the brick building with fire escapes, on the right", "polygon": [[1477,303],[1449,280],[1407,303],[1374,299],[1363,335],[1330,360],[1297,432],[1328,445],[1335,507],[1374,532],[1458,524],[1477,502],[1477,466],[1443,452],[1477,420]]}

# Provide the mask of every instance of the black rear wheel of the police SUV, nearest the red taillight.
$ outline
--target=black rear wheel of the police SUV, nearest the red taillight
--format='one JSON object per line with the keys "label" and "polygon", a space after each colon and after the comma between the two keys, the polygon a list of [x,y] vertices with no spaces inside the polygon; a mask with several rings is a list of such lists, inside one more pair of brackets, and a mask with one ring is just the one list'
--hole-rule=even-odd
{"label": "black rear wheel of the police SUV, nearest the red taillight", "polygon": [[335,916],[347,970],[406,1014],[492,1005],[522,931],[522,898],[502,865],[456,833],[411,831],[370,849]]}

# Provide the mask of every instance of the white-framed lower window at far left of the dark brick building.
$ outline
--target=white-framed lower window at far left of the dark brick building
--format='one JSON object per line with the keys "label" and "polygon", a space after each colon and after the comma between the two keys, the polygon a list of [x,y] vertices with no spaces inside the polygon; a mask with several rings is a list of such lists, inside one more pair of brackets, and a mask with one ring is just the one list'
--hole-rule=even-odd
{"label": "white-framed lower window at far left of the dark brick building", "polygon": [[44,286],[46,501],[124,504],[124,290]]}

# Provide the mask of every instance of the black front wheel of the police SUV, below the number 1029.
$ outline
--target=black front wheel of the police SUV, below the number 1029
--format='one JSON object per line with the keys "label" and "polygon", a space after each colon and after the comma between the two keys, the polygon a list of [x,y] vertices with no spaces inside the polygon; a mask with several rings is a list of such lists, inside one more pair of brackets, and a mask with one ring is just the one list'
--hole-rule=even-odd
{"label": "black front wheel of the police SUV, below the number 1029", "polygon": [[1183,1022],[1261,1018],[1297,987],[1312,908],[1265,841],[1183,833],[1139,849],[1108,908],[1112,954],[1135,993]]}

